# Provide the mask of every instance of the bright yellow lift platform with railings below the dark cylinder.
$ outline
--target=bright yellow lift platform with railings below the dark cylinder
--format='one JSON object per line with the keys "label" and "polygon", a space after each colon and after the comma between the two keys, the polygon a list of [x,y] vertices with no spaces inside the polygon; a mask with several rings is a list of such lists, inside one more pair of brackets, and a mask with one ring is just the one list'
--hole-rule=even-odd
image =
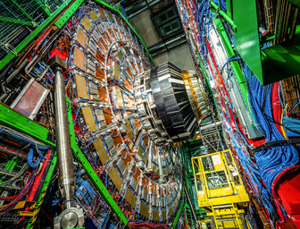
{"label": "bright yellow lift platform with railings below the dark cylinder", "polygon": [[210,222],[216,229],[248,229],[245,208],[249,198],[231,151],[192,157],[192,165],[198,205],[210,216],[199,224],[200,228],[206,228],[206,223]]}

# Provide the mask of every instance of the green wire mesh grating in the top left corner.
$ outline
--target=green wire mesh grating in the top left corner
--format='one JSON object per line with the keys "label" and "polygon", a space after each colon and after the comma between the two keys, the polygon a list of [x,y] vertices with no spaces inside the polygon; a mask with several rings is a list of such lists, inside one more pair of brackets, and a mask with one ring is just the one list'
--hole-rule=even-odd
{"label": "green wire mesh grating in the top left corner", "polygon": [[0,60],[45,21],[63,0],[0,1]]}

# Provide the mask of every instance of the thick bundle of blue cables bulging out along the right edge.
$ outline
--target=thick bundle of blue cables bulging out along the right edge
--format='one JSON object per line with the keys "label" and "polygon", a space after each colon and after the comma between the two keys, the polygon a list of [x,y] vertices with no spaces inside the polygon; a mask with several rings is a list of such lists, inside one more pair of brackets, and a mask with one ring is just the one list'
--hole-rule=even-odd
{"label": "thick bundle of blue cables bulging out along the right edge", "polygon": [[[271,93],[272,87],[275,87],[276,89],[277,85],[273,84],[262,87],[255,76],[250,82],[250,97],[254,105],[256,118],[258,122],[261,123],[262,129],[266,134],[266,143],[274,140],[286,140],[283,136],[283,131],[279,131],[277,125],[274,122],[271,122],[271,120],[273,120],[271,97],[274,97],[274,95],[277,94],[274,94],[275,91],[272,91],[273,93]],[[255,154],[255,158],[259,174],[270,195],[273,194],[273,182],[278,175],[289,167],[296,165],[299,160],[296,148],[288,143],[279,144],[273,148],[263,149]],[[284,220],[281,213],[282,208],[278,208],[278,211],[281,220]]]}

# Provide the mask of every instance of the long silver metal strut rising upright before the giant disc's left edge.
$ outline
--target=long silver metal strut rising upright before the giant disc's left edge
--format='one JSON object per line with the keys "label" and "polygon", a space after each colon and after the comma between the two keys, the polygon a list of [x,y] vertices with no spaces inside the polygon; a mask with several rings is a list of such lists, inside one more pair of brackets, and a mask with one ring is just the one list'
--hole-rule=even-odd
{"label": "long silver metal strut rising upright before the giant disc's left edge", "polygon": [[65,97],[63,69],[56,67],[54,78],[54,110],[57,165],[59,170],[58,185],[64,200],[64,208],[72,207],[75,175],[72,165],[71,140]]}

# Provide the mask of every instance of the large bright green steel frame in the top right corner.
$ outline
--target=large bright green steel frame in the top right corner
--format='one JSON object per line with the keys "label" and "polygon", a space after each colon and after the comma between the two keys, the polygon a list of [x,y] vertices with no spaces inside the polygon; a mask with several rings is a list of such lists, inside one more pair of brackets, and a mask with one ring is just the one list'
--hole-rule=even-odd
{"label": "large bright green steel frame in the top right corner", "polygon": [[[289,1],[299,7],[299,1]],[[256,2],[253,0],[227,0],[226,2],[228,13],[222,12],[218,5],[213,2],[211,4],[231,24],[235,32],[235,46],[238,54],[263,86],[300,74],[300,41],[298,35],[300,25],[296,25],[295,30],[295,35],[298,36],[291,41],[275,43],[271,47],[261,49],[263,40],[260,39],[258,32]],[[279,32],[278,28],[275,28],[274,35],[266,38],[266,41],[276,40]],[[241,79],[237,74],[237,81],[239,80]],[[244,94],[243,91],[243,96]]]}

